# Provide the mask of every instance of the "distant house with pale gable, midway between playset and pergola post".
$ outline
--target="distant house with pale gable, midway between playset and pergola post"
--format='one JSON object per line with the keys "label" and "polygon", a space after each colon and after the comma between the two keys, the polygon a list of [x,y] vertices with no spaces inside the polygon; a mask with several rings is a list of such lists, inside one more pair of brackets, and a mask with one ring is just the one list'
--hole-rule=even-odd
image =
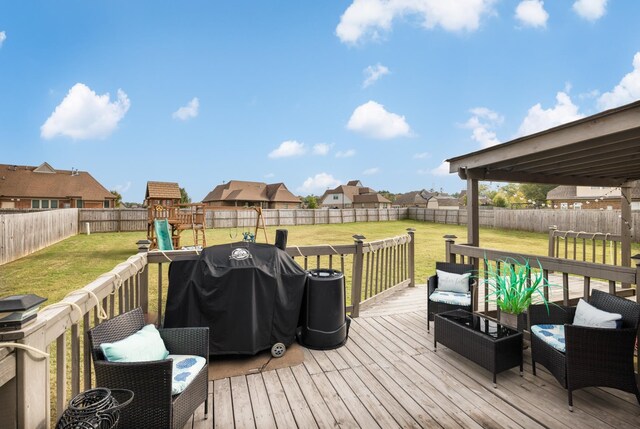
{"label": "distant house with pale gable, midway between playset and pergola post", "polygon": [[325,191],[319,205],[336,209],[387,208],[391,207],[391,201],[373,189],[362,186],[359,180],[351,180],[346,185]]}

